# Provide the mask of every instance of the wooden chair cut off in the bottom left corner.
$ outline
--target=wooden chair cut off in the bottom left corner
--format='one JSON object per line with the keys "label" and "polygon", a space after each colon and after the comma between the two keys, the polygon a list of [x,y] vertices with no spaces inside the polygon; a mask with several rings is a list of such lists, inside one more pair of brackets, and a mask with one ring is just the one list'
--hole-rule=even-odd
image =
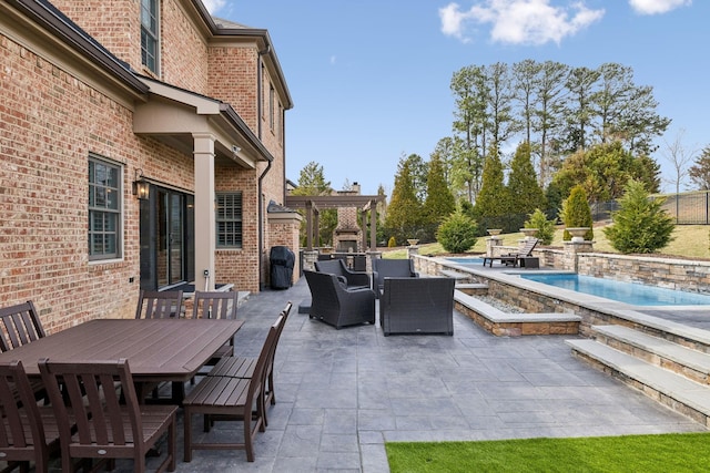
{"label": "wooden chair cut off in the bottom left corner", "polygon": [[[0,363],[0,457],[11,471],[49,471],[50,454],[59,452],[59,429],[51,408],[39,407],[21,361]],[[69,470],[64,470],[69,471]]]}

